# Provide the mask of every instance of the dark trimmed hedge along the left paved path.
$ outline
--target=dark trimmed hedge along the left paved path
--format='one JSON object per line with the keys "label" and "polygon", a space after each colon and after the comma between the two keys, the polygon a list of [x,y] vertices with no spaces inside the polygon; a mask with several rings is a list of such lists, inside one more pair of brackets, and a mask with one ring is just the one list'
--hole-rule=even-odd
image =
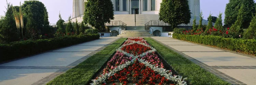
{"label": "dark trimmed hedge along the left paved path", "polygon": [[99,34],[65,36],[50,39],[16,41],[10,44],[0,44],[0,62],[29,56],[60,47],[79,44],[94,39],[99,39]]}

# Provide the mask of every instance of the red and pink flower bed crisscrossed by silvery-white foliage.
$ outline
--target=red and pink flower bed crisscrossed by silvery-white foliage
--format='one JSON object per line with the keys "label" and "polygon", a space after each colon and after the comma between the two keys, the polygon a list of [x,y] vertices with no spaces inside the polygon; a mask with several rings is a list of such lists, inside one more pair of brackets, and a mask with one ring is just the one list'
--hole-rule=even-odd
{"label": "red and pink flower bed crisscrossed by silvery-white foliage", "polygon": [[171,70],[164,69],[155,51],[141,37],[128,38],[107,63],[103,74],[91,84],[186,85],[186,78],[172,75]]}

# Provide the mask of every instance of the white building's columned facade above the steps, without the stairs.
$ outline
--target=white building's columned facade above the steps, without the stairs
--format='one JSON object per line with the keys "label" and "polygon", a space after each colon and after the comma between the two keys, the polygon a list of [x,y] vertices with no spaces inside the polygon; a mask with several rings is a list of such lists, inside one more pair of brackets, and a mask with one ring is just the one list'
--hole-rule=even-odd
{"label": "white building's columned facade above the steps, without the stairs", "polygon": [[[73,0],[72,17],[83,15],[84,2],[87,0]],[[158,14],[162,0],[111,0],[114,15],[123,14]],[[191,16],[199,16],[200,0],[188,0]]]}

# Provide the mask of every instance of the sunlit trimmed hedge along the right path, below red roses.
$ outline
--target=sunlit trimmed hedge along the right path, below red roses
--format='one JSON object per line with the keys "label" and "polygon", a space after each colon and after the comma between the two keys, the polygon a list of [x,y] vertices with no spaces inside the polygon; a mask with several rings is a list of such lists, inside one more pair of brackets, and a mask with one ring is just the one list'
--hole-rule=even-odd
{"label": "sunlit trimmed hedge along the right path, below red roses", "polygon": [[216,46],[219,48],[226,48],[232,51],[243,51],[256,55],[256,40],[255,39],[234,39],[224,38],[221,36],[213,35],[181,35],[173,34],[173,38],[193,41],[195,43]]}

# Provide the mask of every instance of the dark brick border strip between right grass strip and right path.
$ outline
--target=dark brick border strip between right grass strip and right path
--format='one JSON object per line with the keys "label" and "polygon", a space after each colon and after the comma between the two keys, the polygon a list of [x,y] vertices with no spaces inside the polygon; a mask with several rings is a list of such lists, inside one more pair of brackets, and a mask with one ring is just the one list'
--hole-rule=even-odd
{"label": "dark brick border strip between right grass strip and right path", "polygon": [[[151,37],[151,38],[152,38],[152,37]],[[169,48],[169,49],[171,49],[171,50],[177,52],[178,54],[184,56],[184,57],[187,58],[188,60],[194,62],[194,63],[197,64],[197,65],[199,65],[201,68],[203,68],[203,69],[205,69],[205,70],[207,70],[207,71],[209,71],[209,72],[215,74],[217,77],[219,77],[218,75],[224,76],[225,78],[219,77],[219,78],[223,79],[224,81],[229,82],[229,80],[233,79],[232,81],[238,81],[238,82],[240,82],[240,83],[238,83],[238,82],[233,82],[233,83],[232,83],[232,82],[229,82],[229,83],[231,83],[232,85],[234,85],[234,84],[244,84],[243,82],[241,83],[241,81],[239,81],[239,80],[237,80],[237,79],[234,79],[234,78],[232,78],[232,77],[226,75],[225,73],[223,73],[223,72],[221,72],[221,71],[218,71],[217,69],[215,69],[215,68],[213,68],[213,67],[211,67],[211,66],[209,66],[209,65],[207,65],[207,64],[204,64],[204,63],[202,63],[202,62],[200,62],[200,61],[198,61],[198,60],[196,60],[196,59],[193,58],[193,57],[190,57],[190,56],[188,56],[188,55],[186,55],[186,54],[184,54],[184,53],[182,53],[182,52],[180,52],[180,51],[178,51],[178,50],[176,50],[176,49],[174,49],[174,48],[172,48],[172,47],[170,47],[170,46],[168,46],[168,45],[166,45],[166,44],[163,44],[161,41],[158,41],[158,40],[156,40],[155,38],[152,38],[152,39],[154,39],[154,40],[157,41],[158,43],[160,43],[160,44],[166,46],[167,48]],[[163,41],[163,42],[164,42],[164,41]],[[198,62],[198,63],[196,63],[196,62]],[[213,69],[214,71],[211,71],[211,69]],[[231,79],[229,79],[229,78],[231,78]]]}

